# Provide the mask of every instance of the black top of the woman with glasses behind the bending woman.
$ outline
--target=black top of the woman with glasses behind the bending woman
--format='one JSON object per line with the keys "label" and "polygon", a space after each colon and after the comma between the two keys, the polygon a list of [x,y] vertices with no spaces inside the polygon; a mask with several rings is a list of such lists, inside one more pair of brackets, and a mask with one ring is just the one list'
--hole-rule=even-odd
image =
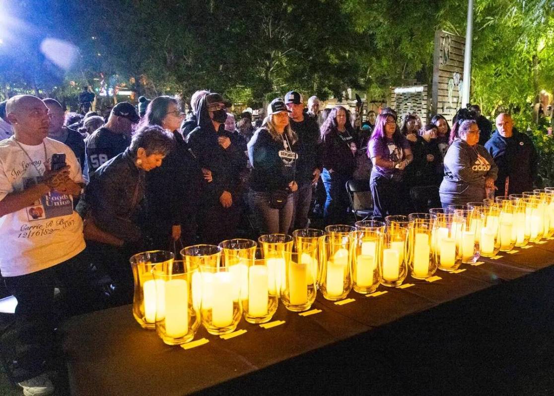
{"label": "black top of the woman with glasses behind the bending woman", "polygon": [[146,173],[148,224],[167,233],[171,226],[192,221],[203,181],[198,162],[187,150],[181,134],[173,132],[173,137],[175,149],[159,168]]}

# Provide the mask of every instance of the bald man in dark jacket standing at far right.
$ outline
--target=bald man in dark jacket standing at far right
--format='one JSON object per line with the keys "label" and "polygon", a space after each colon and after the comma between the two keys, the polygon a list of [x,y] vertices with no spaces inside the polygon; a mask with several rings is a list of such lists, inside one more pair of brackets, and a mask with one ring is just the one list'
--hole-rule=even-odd
{"label": "bald man in dark jacket standing at far right", "polygon": [[485,148],[498,166],[497,195],[521,194],[533,190],[538,156],[529,136],[514,127],[508,113],[496,117],[496,129]]}

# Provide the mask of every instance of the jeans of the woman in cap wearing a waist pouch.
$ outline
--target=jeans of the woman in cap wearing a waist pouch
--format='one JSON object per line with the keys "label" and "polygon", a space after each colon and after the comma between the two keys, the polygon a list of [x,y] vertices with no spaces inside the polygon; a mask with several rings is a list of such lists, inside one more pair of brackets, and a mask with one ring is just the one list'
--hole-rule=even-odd
{"label": "jeans of the woman in cap wearing a waist pouch", "polygon": [[283,209],[269,206],[269,192],[250,190],[248,204],[254,213],[259,232],[264,234],[286,234],[293,220],[293,194],[289,194]]}

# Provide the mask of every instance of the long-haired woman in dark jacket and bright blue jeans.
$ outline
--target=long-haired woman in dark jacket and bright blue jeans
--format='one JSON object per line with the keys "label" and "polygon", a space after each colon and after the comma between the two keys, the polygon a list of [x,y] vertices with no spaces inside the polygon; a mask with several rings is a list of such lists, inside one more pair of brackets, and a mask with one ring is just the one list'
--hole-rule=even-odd
{"label": "long-haired woman in dark jacket and bright blue jeans", "polygon": [[323,172],[327,199],[323,217],[327,225],[346,221],[350,204],[346,181],[356,168],[356,140],[346,108],[335,106],[321,126]]}

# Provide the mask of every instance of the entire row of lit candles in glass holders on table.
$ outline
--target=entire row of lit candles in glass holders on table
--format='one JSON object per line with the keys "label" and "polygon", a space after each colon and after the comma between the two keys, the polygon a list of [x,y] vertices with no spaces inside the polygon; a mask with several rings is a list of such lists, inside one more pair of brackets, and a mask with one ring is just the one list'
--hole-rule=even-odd
{"label": "entire row of lit candles in glass holders on table", "polygon": [[143,252],[131,258],[133,313],[142,327],[178,345],[191,341],[201,324],[223,335],[235,331],[242,317],[268,322],[279,300],[290,311],[305,311],[317,290],[332,301],[352,289],[369,294],[379,284],[401,285],[408,272],[427,279],[437,269],[450,272],[552,235],[554,188],[548,188],[354,227],[194,245],[182,249],[182,259]]}

